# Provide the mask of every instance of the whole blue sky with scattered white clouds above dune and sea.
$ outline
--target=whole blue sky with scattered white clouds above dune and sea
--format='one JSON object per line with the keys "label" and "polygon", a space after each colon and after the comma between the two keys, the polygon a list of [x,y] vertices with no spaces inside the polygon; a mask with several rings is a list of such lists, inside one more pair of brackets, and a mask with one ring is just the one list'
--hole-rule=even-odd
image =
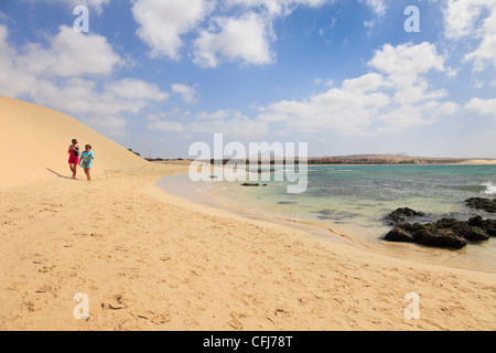
{"label": "whole blue sky with scattered white clouds above dune and sea", "polygon": [[311,156],[496,158],[496,0],[2,0],[0,67],[0,95],[147,157],[222,132]]}

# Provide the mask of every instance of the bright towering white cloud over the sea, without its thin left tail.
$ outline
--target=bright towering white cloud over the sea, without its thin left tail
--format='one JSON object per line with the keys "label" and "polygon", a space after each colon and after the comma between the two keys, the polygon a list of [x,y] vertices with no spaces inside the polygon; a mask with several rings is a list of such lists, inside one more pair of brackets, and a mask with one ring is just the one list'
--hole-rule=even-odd
{"label": "bright towering white cloud over the sea, without its thin left tail", "polygon": [[368,66],[376,72],[345,79],[341,87],[309,99],[260,107],[258,119],[303,132],[369,135],[432,124],[460,109],[454,103],[442,101],[446,92],[431,89],[425,77],[431,71],[446,71],[444,57],[433,44],[386,44],[375,52]]}

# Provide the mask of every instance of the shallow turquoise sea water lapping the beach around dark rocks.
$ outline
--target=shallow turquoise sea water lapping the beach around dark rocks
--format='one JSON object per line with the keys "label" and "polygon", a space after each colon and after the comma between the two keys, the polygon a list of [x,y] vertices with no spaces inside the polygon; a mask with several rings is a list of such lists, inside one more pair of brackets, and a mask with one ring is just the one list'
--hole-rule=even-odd
{"label": "shallow turquoise sea water lapping the beach around dark rocks", "polygon": [[382,217],[398,207],[425,213],[425,222],[496,217],[464,205],[468,197],[496,199],[496,165],[317,165],[309,167],[308,178],[301,194],[287,193],[288,182],[273,178],[266,188],[214,181],[195,189],[237,210],[332,228],[374,252],[496,272],[495,238],[457,252],[381,239],[391,229]]}

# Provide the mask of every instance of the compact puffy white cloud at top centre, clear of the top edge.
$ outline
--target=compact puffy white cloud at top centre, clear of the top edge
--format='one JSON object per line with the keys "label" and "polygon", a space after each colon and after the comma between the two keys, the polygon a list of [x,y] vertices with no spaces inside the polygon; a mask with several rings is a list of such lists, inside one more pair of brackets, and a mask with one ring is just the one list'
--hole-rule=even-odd
{"label": "compact puffy white cloud at top centre, clear of the top edge", "polygon": [[256,65],[273,62],[273,34],[262,17],[249,12],[240,18],[216,18],[214,22],[218,30],[202,31],[194,43],[194,63],[215,67],[222,58]]}

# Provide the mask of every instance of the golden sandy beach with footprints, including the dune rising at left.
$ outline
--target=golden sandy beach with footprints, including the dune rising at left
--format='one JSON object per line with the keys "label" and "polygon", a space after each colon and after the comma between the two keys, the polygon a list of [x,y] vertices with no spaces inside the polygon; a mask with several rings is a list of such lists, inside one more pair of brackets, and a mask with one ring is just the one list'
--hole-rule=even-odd
{"label": "golden sandy beach with footprints, including the dune rising at left", "polygon": [[[186,162],[149,163],[71,117],[0,104],[0,330],[496,329],[495,274],[194,204],[155,185]],[[90,183],[69,179],[74,137],[94,145]],[[50,157],[26,167],[15,156],[32,139]],[[74,317],[78,292],[89,320]],[[410,292],[418,320],[405,315]]]}

